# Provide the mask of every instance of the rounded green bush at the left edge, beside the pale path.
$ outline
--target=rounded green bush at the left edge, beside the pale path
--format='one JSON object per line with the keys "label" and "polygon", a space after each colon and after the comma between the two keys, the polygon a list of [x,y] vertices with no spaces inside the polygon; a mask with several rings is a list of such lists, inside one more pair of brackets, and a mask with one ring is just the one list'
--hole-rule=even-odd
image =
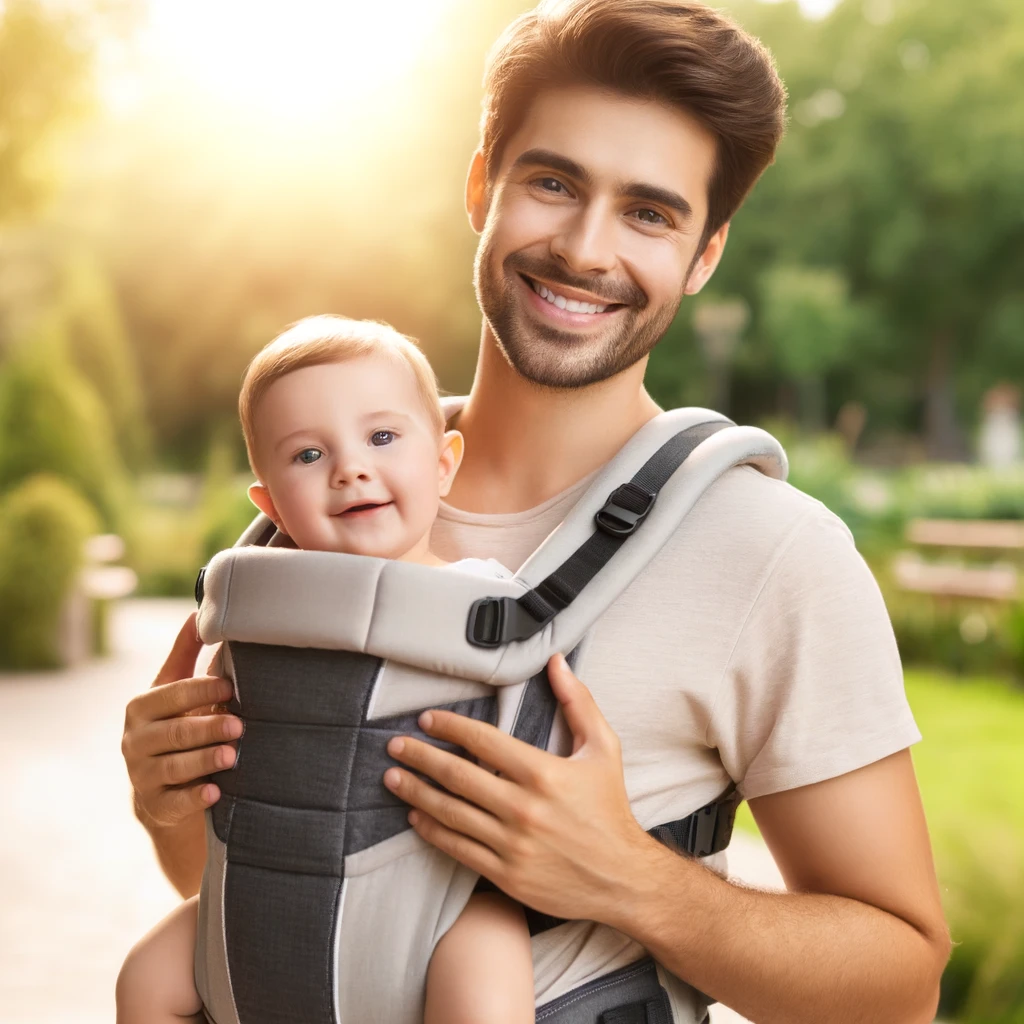
{"label": "rounded green bush at the left edge, beside the pale path", "polygon": [[61,608],[97,527],[89,503],[54,476],[32,476],[0,501],[0,666],[59,664]]}

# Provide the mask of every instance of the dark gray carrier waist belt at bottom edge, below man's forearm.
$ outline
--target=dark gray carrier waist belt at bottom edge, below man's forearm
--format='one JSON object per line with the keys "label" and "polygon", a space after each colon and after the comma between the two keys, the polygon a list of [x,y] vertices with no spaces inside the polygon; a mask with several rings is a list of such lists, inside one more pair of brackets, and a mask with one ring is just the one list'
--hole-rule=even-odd
{"label": "dark gray carrier waist belt at bottom edge, below man's forearm", "polygon": [[[657,980],[657,968],[647,957],[612,971],[580,988],[546,1002],[537,1010],[537,1022],[546,1024],[598,1024],[607,1014],[604,1024],[612,1024],[612,1011],[640,1004],[635,1019],[643,1024],[672,1024],[672,1004],[669,993]],[[627,1014],[620,1019],[629,1020]]]}

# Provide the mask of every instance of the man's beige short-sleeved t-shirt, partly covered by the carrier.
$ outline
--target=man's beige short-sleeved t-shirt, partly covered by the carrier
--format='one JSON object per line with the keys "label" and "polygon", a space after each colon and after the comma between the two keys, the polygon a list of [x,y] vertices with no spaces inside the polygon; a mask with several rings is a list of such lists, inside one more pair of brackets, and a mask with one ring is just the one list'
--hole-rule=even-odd
{"label": "man's beige short-sleeved t-shirt, partly covered by the carrier", "polygon": [[[590,478],[526,512],[442,505],[442,558],[518,568]],[[642,527],[641,527],[642,528]],[[735,782],[750,799],[833,778],[921,738],[892,627],[845,524],[750,467],[725,473],[584,641],[577,672],[618,734],[626,785],[649,828]],[[636,959],[603,926],[534,940],[539,1002]],[[670,983],[677,1021],[699,998]]]}

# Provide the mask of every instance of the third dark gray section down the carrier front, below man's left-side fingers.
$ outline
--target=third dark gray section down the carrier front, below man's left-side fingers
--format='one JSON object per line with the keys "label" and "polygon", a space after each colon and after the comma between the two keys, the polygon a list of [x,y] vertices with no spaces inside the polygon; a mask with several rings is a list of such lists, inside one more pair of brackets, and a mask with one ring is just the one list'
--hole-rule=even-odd
{"label": "third dark gray section down the carrier front, below man's left-side fingers", "polygon": [[341,877],[347,824],[344,814],[275,807],[234,797],[221,798],[216,807],[221,804],[229,804],[230,811],[225,815],[224,835],[218,830],[217,836],[228,847],[231,864]]}

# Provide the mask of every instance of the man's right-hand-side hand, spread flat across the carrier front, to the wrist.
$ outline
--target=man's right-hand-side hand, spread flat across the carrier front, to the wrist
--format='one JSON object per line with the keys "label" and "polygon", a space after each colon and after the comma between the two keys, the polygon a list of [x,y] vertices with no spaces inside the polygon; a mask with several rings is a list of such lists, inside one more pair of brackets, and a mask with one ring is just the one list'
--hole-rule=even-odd
{"label": "man's right-hand-side hand, spread flat across the carrier front, to the wrist", "polygon": [[407,736],[392,739],[388,753],[449,792],[399,768],[385,772],[384,784],[416,808],[410,821],[423,839],[509,896],[559,918],[610,924],[622,880],[636,873],[639,851],[656,843],[633,817],[618,737],[590,691],[560,654],[548,676],[574,737],[570,757],[485,722],[428,711],[420,717],[424,732],[500,774]]}

